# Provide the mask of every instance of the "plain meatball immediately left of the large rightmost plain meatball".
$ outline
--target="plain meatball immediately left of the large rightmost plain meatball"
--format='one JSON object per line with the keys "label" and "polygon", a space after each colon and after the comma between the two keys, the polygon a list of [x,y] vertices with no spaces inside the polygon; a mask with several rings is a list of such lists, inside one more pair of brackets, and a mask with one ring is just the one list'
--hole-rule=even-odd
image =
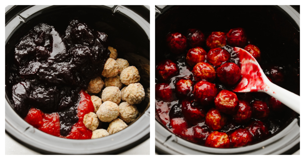
{"label": "plain meatball immediately left of the large rightmost plain meatball", "polygon": [[120,104],[120,101],[122,99],[121,91],[118,87],[111,86],[106,87],[102,92],[102,101],[111,101],[116,103],[117,105]]}

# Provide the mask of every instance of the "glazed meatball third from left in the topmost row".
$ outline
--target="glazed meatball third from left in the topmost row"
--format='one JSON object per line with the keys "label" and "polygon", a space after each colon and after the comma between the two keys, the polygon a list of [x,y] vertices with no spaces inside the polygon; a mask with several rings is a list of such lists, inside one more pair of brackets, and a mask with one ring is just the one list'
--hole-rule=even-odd
{"label": "glazed meatball third from left in the topmost row", "polygon": [[206,39],[206,46],[210,49],[224,47],[227,44],[224,32],[212,32]]}

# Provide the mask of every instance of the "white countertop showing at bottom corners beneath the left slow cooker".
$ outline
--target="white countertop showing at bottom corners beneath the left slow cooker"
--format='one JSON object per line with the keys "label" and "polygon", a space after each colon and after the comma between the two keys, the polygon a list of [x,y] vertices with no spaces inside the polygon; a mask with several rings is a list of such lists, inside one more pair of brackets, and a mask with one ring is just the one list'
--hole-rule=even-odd
{"label": "white countertop showing at bottom corners beneath the left slow cooker", "polygon": [[[124,151],[120,154],[149,154],[149,144],[150,138],[145,140],[143,143],[139,144],[138,146],[131,148],[130,150]],[[15,141],[12,137],[10,137],[7,133],[5,133],[5,154],[41,154],[36,151],[33,151],[19,142]]]}

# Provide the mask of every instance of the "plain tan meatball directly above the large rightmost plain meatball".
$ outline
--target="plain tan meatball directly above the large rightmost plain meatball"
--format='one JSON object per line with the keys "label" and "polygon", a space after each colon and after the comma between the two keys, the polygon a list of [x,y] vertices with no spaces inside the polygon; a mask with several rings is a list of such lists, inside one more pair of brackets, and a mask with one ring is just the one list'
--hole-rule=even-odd
{"label": "plain tan meatball directly above the large rightmost plain meatball", "polygon": [[132,83],[138,83],[140,81],[139,71],[135,66],[129,66],[121,72],[120,79],[127,86]]}

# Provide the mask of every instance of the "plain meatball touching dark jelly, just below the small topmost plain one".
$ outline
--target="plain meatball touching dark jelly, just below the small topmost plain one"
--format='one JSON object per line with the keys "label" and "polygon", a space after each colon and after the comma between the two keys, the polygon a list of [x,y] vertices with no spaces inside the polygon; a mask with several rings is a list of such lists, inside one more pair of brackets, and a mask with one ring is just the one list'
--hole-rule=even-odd
{"label": "plain meatball touching dark jelly, just below the small topmost plain one", "polygon": [[104,77],[114,77],[117,74],[119,74],[119,65],[117,64],[117,61],[115,61],[112,58],[108,58],[105,66],[104,66],[104,70],[102,72],[102,76]]}

